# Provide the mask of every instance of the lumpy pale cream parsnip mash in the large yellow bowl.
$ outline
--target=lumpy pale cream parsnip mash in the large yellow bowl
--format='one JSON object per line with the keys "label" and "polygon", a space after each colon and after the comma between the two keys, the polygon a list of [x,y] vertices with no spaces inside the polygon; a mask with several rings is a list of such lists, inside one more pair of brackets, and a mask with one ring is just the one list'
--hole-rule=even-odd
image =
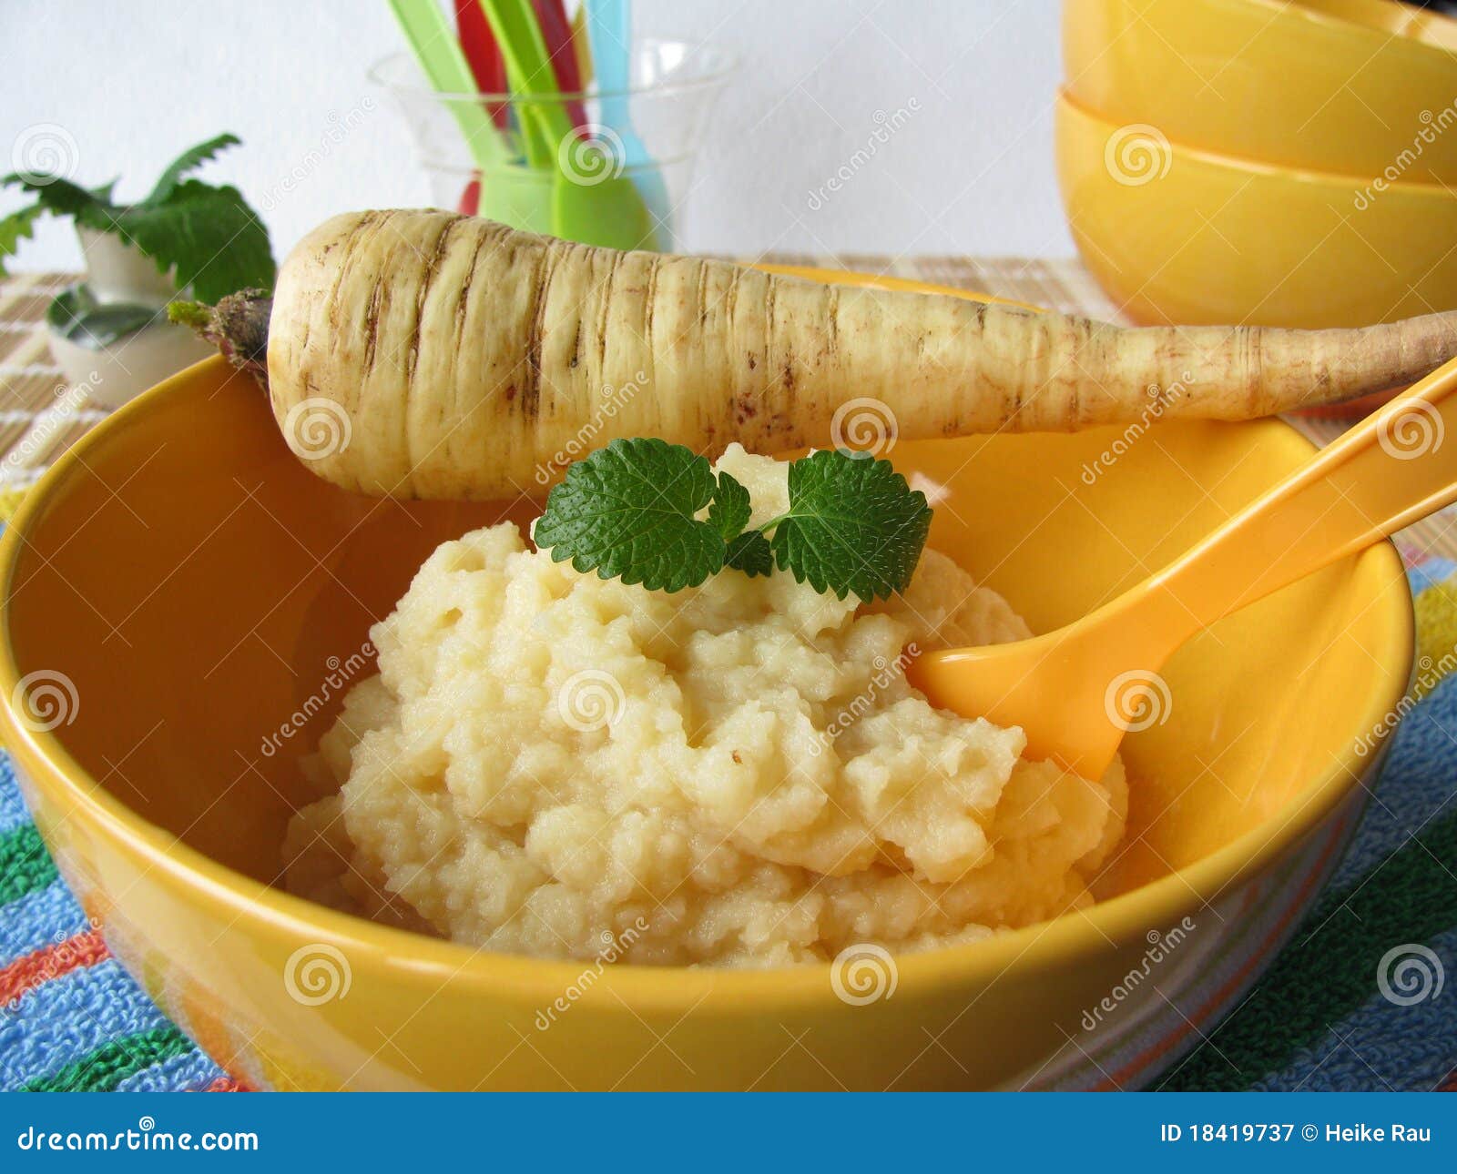
{"label": "lumpy pale cream parsnip mash in the large yellow bowl", "polygon": [[[753,524],[787,466],[731,447]],[[931,709],[915,648],[1029,635],[928,551],[873,607],[787,574],[675,594],[578,574],[510,524],[443,545],[373,632],[291,823],[288,887],[490,950],[779,966],[915,950],[1091,900],[1123,832],[1023,737]]]}

